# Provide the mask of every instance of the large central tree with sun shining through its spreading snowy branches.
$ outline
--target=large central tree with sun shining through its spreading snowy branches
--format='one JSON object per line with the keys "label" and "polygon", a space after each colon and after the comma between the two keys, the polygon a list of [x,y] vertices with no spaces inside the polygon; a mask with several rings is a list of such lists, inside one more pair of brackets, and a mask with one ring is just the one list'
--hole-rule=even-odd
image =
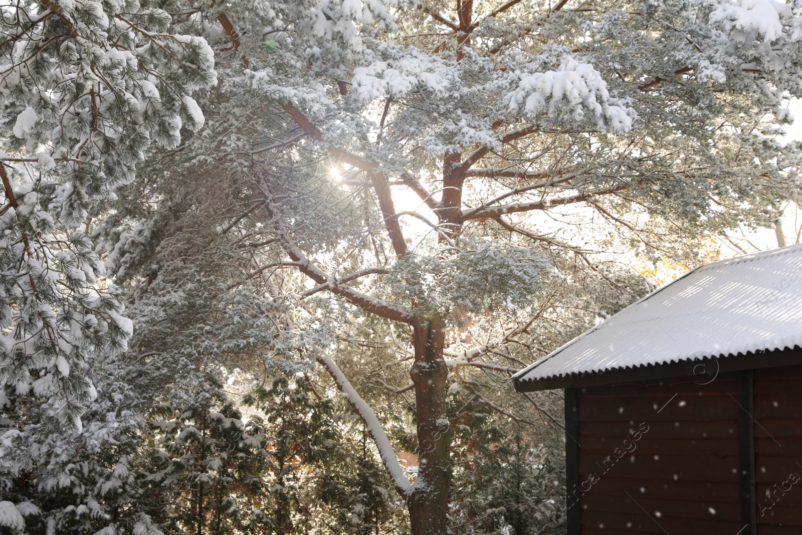
{"label": "large central tree with sun shining through its spreading snowy branches", "polygon": [[[194,9],[181,27],[210,39],[225,82],[201,99],[205,130],[154,156],[152,182],[136,186],[192,177],[206,195],[135,194],[139,213],[116,207],[96,235],[135,295],[194,311],[216,289],[201,314],[214,321],[172,331],[209,342],[193,359],[248,368],[278,355],[298,371],[317,360],[364,419],[416,534],[446,533],[458,506],[449,395],[520,419],[488,375],[648,290],[602,253],[694,261],[695,239],[771,224],[776,200],[798,194],[799,144],[776,139],[800,96],[796,4]],[[151,216],[182,203],[197,224],[183,235],[204,239],[158,257],[152,242],[175,222]],[[185,259],[208,247],[223,261],[195,278]],[[357,359],[364,342],[386,345]],[[548,396],[519,401],[549,420]],[[407,424],[399,407],[415,440],[394,432]],[[414,478],[394,444],[419,456]]]}

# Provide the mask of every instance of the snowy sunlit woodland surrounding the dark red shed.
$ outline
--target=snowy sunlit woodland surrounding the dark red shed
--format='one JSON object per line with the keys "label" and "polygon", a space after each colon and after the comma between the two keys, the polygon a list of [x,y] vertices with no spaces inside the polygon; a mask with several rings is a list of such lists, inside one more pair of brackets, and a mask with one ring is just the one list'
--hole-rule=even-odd
{"label": "snowy sunlit woodland surrounding the dark red shed", "polygon": [[800,0],[0,10],[4,534],[565,533],[510,376],[800,197]]}

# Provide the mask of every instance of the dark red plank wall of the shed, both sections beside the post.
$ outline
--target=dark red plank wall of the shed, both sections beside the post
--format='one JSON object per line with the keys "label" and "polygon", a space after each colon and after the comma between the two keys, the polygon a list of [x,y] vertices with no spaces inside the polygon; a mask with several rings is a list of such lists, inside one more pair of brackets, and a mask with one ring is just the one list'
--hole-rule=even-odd
{"label": "dark red plank wall of the shed, both sections beside the post", "polygon": [[[581,534],[751,535],[738,399],[735,374],[578,388]],[[802,367],[755,371],[753,403],[757,533],[799,535]]]}

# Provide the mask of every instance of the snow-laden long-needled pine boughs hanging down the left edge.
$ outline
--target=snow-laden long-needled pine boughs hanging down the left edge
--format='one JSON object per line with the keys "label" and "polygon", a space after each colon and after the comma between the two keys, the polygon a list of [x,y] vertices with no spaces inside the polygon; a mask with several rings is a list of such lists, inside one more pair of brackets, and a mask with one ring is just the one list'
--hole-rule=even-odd
{"label": "snow-laden long-needled pine boughs hanging down the left edge", "polygon": [[131,322],[86,235],[155,141],[203,124],[211,49],[139,2],[31,0],[0,7],[0,382],[51,397],[73,426],[98,355]]}

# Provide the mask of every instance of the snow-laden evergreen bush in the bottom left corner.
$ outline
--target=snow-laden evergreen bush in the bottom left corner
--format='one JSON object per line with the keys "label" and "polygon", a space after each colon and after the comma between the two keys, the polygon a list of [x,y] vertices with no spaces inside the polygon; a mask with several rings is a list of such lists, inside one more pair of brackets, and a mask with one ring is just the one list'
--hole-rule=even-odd
{"label": "snow-laden evergreen bush in the bottom left corner", "polygon": [[60,423],[47,399],[10,396],[0,429],[0,493],[16,505],[24,533],[161,533],[153,523],[160,496],[144,481],[145,414],[164,401],[152,390],[169,372],[158,363],[105,359],[80,432],[55,431]]}

